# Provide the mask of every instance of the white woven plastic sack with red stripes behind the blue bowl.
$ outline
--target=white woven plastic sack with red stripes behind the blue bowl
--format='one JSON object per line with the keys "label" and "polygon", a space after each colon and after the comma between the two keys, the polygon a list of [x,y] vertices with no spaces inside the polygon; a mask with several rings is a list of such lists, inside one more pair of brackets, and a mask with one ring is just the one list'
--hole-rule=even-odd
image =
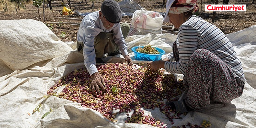
{"label": "white woven plastic sack with red stripes behind the blue bowl", "polygon": [[128,36],[161,34],[164,17],[155,11],[137,10],[133,13]]}

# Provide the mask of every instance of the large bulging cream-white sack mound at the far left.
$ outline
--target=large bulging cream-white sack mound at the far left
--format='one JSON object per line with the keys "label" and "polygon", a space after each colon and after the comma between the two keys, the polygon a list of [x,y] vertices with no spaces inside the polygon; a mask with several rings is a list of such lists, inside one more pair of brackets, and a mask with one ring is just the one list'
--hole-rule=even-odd
{"label": "large bulging cream-white sack mound at the far left", "polygon": [[0,20],[0,28],[0,58],[11,70],[23,70],[73,50],[37,20]]}

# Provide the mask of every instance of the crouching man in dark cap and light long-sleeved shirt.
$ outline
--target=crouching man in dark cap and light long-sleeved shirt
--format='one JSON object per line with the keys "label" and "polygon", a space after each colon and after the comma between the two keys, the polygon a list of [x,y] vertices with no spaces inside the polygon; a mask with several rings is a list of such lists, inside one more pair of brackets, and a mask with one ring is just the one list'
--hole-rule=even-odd
{"label": "crouching man in dark cap and light long-sleeved shirt", "polygon": [[77,32],[76,48],[83,53],[84,65],[92,77],[90,89],[100,93],[99,86],[103,86],[104,78],[98,73],[96,63],[104,63],[102,56],[108,53],[110,56],[123,54],[125,61],[132,64],[132,59],[127,52],[125,38],[130,26],[127,23],[120,25],[122,13],[119,4],[114,0],[105,0],[101,5],[101,11],[86,15]]}

